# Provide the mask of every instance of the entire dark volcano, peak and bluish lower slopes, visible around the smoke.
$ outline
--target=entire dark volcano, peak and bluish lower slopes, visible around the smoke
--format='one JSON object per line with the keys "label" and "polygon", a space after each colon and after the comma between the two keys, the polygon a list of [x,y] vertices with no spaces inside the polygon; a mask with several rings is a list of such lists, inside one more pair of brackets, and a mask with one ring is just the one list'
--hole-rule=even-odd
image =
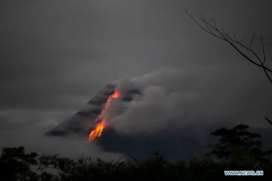
{"label": "entire dark volcano, peak and bluish lower slopes, visible around the smoke", "polygon": [[[83,109],[48,131],[46,135],[79,135],[85,137],[86,141],[95,138],[96,144],[104,151],[129,154],[138,159],[145,159],[155,150],[159,150],[169,160],[174,161],[202,157],[203,153],[208,150],[206,146],[217,142],[215,138],[209,135],[211,131],[222,126],[235,126],[233,123],[217,122],[206,127],[193,125],[184,128],[165,128],[153,134],[125,134],[118,133],[112,128],[104,129],[103,119],[100,120],[101,113],[110,97],[118,97],[114,96],[116,86],[116,84],[106,85]],[[132,88],[122,92],[120,99],[129,102],[133,100],[133,96],[136,94],[139,95],[141,92],[137,88]],[[144,121],[146,120],[139,120],[139,124],[144,123]],[[251,129],[252,132],[265,135],[263,139],[264,148],[270,149],[272,129]],[[90,136],[92,131],[94,137]]]}

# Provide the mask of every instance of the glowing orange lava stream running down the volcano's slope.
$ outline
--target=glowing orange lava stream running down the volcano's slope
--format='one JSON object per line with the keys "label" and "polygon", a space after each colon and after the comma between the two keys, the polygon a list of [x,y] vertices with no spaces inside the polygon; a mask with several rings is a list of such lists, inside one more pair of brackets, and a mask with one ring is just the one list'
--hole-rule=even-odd
{"label": "glowing orange lava stream running down the volcano's slope", "polygon": [[[117,97],[119,97],[119,96],[120,96],[120,95],[118,94],[118,92],[115,92],[114,94],[112,94],[112,95],[110,95],[110,96],[108,97],[107,102],[109,102],[112,98],[117,98]],[[106,104],[105,104],[104,110],[107,109],[108,106],[109,106],[109,103],[106,103]],[[101,112],[101,113],[102,113],[102,112]],[[102,114],[100,114],[100,115],[94,120],[94,122],[96,122],[96,121],[99,120],[100,118],[102,118]],[[96,128],[93,129],[93,130],[91,131],[91,133],[89,134],[89,137],[88,137],[88,141],[92,141],[92,140],[94,140],[95,138],[100,137],[100,136],[101,136],[101,133],[103,132],[104,127],[105,127],[105,119],[103,119],[102,122],[98,123],[98,124],[96,125]]]}

